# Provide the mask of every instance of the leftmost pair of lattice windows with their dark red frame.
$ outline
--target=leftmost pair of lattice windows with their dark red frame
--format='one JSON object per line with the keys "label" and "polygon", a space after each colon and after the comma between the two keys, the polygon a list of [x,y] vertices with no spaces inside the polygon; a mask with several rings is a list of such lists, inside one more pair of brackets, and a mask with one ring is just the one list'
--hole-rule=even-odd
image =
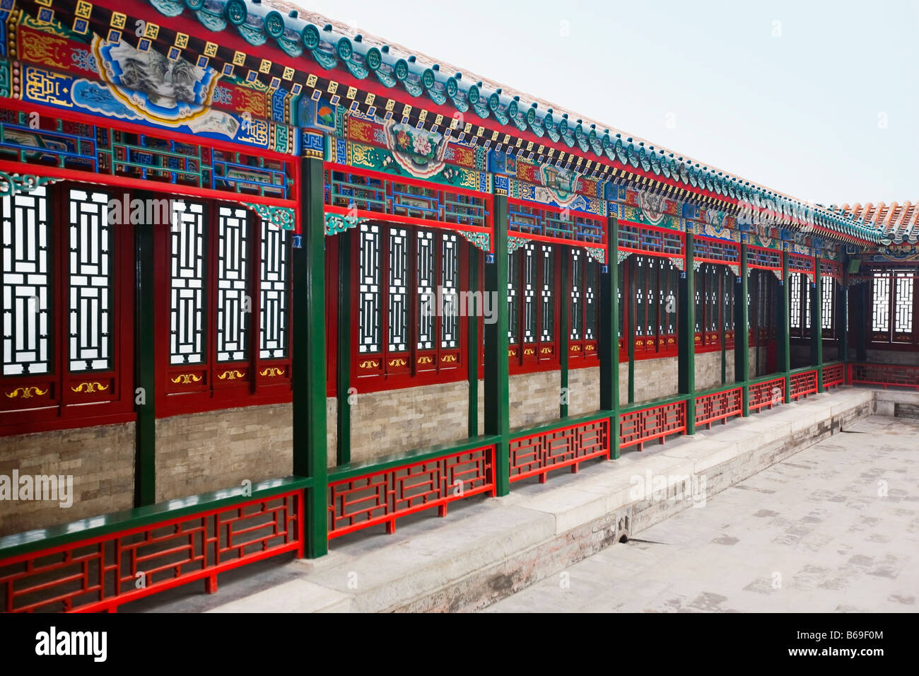
{"label": "leftmost pair of lattice windows with their dark red frame", "polygon": [[110,216],[120,214],[108,203],[107,193],[68,183],[0,197],[0,433],[130,417],[132,399],[121,395],[130,388],[119,381],[130,328],[116,322],[122,314],[133,321],[132,226],[116,232]]}

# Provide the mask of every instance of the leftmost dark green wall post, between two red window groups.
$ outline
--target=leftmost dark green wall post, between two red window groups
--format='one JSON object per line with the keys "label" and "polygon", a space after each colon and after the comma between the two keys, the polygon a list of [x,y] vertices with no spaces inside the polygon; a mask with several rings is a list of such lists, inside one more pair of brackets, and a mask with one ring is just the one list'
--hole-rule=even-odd
{"label": "leftmost dark green wall post, between two red window groups", "polygon": [[[116,234],[117,236],[118,234]],[[116,240],[118,241],[118,240]],[[168,238],[167,238],[168,241]],[[123,246],[130,246],[124,242]],[[134,246],[137,278],[134,318],[134,507],[156,501],[156,347],[154,329],[153,225],[135,226]]]}

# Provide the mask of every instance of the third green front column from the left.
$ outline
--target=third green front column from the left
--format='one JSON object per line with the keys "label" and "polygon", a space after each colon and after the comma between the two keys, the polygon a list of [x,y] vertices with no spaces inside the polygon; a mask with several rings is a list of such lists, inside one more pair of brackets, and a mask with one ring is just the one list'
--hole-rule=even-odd
{"label": "third green front column from the left", "polygon": [[619,225],[607,219],[607,271],[600,274],[600,409],[611,411],[609,457],[619,457]]}

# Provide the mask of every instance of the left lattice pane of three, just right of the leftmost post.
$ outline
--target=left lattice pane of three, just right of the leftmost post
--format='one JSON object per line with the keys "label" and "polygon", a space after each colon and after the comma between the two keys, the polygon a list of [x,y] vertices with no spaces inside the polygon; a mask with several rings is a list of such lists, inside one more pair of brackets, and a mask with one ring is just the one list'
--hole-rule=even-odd
{"label": "left lattice pane of three, just right of the leftmost post", "polygon": [[169,362],[205,361],[207,242],[204,206],[173,202]]}

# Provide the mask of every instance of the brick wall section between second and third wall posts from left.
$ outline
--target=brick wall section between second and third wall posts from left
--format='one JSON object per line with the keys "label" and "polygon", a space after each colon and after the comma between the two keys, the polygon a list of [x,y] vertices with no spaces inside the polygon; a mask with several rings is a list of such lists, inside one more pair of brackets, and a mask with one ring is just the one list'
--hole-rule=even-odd
{"label": "brick wall section between second and third wall posts from left", "polygon": [[466,439],[468,411],[466,381],[358,392],[351,407],[351,462]]}

